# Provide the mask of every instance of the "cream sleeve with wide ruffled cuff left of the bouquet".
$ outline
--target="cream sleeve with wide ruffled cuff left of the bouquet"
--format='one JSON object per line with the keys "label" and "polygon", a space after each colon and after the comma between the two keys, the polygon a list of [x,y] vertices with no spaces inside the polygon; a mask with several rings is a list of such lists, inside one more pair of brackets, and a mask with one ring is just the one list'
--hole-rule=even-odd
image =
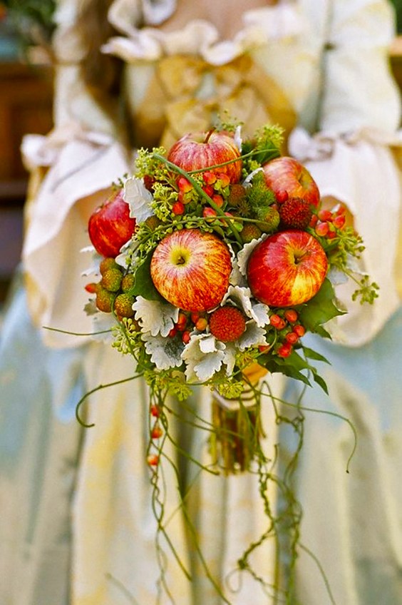
{"label": "cream sleeve with wide ruffled cuff left of the bouquet", "polygon": [[[128,158],[113,121],[81,80],[74,5],[61,2],[57,13],[55,127],[46,137],[26,136],[22,144],[31,173],[46,172],[26,205],[22,258],[29,308],[38,327],[91,332],[91,319],[83,311],[86,281],[81,278],[88,255],[80,250],[89,243],[88,216],[108,195],[111,183],[128,171]],[[68,347],[87,339],[43,330],[43,340]]]}

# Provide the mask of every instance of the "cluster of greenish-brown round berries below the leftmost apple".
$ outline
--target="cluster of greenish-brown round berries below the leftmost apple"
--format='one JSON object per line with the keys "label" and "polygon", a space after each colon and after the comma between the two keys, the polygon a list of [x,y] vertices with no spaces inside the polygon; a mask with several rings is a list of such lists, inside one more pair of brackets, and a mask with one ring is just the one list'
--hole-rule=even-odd
{"label": "cluster of greenish-brown round berries below the leftmost apple", "polygon": [[101,279],[97,283],[88,283],[86,291],[96,294],[96,307],[105,313],[115,312],[118,319],[133,317],[134,296],[130,290],[134,285],[134,275],[124,275],[123,268],[114,258],[103,258],[99,265]]}

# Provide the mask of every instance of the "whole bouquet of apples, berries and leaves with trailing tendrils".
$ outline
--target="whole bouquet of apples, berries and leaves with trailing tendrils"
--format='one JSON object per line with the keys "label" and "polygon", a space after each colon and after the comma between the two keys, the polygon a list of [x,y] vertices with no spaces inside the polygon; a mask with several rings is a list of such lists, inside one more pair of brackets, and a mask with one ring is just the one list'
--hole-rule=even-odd
{"label": "whole bouquet of apples, berries and leaves with trailing tendrils", "polygon": [[[188,134],[169,152],[140,149],[134,175],[88,223],[98,281],[86,286],[86,311],[112,320],[113,347],[133,356],[149,385],[155,486],[173,413],[167,395],[186,402],[206,386],[213,472],[257,469],[268,517],[262,384],[279,372],[326,390],[312,363],[324,358],[304,334],[330,337],[324,326],[344,313],[336,284],[355,280],[361,302],[377,296],[356,271],[364,245],[346,209],[323,208],[309,171],[281,147],[278,126],[244,141],[239,126],[226,126]],[[297,517],[294,504],[289,510]]]}

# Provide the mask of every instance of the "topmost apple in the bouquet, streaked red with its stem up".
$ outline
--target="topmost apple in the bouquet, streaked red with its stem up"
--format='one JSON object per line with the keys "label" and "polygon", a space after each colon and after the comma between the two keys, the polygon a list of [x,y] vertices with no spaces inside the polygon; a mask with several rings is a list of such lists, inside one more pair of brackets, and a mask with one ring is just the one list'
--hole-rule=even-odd
{"label": "topmost apple in the bouquet, streaked red with its stem up", "polygon": [[[190,172],[199,168],[210,168],[215,164],[237,160],[240,152],[234,138],[225,132],[188,133],[177,141],[168,153],[168,160],[179,168]],[[230,183],[238,183],[242,176],[242,161],[237,160],[210,172],[224,173]]]}

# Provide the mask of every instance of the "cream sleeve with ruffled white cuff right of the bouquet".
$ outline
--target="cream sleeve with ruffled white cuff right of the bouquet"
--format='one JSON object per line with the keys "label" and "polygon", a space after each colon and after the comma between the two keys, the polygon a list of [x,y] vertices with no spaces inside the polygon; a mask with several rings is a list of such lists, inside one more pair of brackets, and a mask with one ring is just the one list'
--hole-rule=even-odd
{"label": "cream sleeve with ruffled white cuff right of the bouquet", "polygon": [[398,306],[393,269],[401,181],[391,146],[401,146],[402,136],[400,98],[388,67],[393,14],[385,0],[335,0],[328,6],[319,132],[297,129],[289,149],[309,167],[322,196],[346,203],[364,238],[361,268],[380,286],[379,298],[373,305],[351,303],[354,285],[340,287],[349,314],[336,332],[341,341],[361,345]]}

